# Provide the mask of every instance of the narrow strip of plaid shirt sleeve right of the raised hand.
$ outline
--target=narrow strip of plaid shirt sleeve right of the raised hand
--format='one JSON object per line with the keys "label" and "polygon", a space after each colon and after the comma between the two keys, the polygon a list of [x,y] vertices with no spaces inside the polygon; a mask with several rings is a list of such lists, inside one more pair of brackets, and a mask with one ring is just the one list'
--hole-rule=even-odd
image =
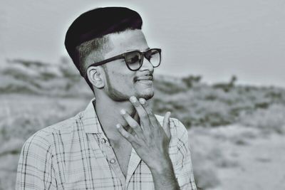
{"label": "narrow strip of plaid shirt sleeve right of the raised hand", "polygon": [[175,123],[177,125],[177,181],[180,189],[196,190],[190,145],[188,143],[188,131],[179,120],[176,120]]}

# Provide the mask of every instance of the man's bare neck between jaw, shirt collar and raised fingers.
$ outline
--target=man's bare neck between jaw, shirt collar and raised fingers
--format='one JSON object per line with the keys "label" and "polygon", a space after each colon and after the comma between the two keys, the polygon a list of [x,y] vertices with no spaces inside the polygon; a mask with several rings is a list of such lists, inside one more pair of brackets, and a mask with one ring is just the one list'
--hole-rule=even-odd
{"label": "man's bare neck between jaw, shirt collar and raised fingers", "polygon": [[116,102],[108,96],[98,96],[95,98],[94,107],[105,135],[113,142],[119,142],[123,139],[115,127],[117,124],[123,125],[128,132],[132,131],[128,122],[120,115],[120,110],[124,109],[137,122],[139,121],[135,107],[129,100]]}

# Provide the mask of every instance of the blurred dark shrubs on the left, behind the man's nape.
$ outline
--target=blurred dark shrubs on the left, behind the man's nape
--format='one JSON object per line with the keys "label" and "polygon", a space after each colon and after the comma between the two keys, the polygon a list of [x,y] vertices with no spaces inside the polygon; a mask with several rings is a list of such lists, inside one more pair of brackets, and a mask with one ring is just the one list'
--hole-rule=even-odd
{"label": "blurred dark shrubs on the left, behind the man's nape", "polygon": [[0,70],[0,93],[21,93],[53,97],[92,97],[85,80],[71,63],[50,64],[8,60]]}

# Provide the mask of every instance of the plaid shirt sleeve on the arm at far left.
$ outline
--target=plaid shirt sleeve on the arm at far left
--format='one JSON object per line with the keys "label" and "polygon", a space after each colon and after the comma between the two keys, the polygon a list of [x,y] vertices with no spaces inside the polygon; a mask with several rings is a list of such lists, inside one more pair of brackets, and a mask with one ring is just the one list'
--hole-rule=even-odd
{"label": "plaid shirt sleeve on the arm at far left", "polygon": [[56,189],[52,146],[43,132],[33,134],[21,149],[16,189]]}

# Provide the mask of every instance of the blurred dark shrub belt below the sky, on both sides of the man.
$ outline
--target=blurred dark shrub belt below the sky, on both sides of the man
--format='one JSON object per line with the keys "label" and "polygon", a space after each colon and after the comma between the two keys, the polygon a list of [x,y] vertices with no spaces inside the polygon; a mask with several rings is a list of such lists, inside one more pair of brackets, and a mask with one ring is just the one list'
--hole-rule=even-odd
{"label": "blurred dark shrub belt below the sky, on both sides of the man", "polygon": [[[266,109],[272,104],[285,104],[285,90],[235,85],[236,76],[228,83],[207,85],[201,76],[184,78],[155,75],[153,109],[180,119],[186,127],[216,127],[239,120],[241,112]],[[49,97],[93,96],[72,63],[62,58],[58,64],[38,61],[9,60],[0,71],[0,93],[21,93]]]}

